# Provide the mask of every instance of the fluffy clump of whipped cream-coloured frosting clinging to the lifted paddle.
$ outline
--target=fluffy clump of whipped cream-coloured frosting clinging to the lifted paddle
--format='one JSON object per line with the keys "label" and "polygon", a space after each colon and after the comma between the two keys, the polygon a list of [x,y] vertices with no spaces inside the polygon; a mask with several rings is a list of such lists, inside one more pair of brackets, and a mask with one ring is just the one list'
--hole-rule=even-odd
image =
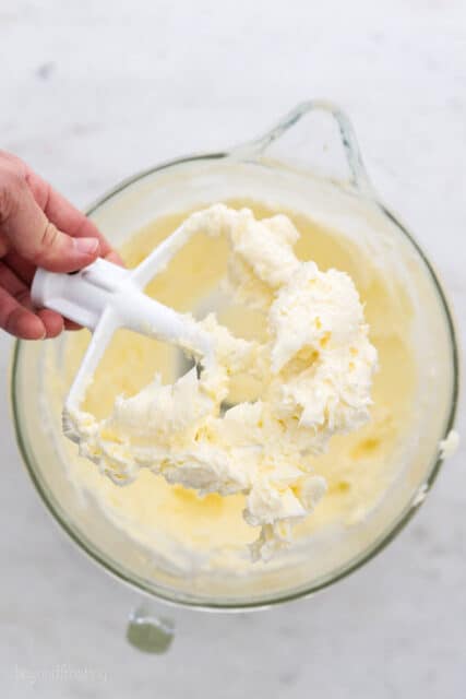
{"label": "fluffy clump of whipped cream-coloured frosting clinging to the lifted paddle", "polygon": [[[199,376],[193,367],[164,384],[156,375],[134,395],[118,395],[104,419],[68,415],[68,434],[113,483],[146,467],[201,495],[246,495],[244,519],[261,528],[252,556],[267,559],[327,489],[314,458],[334,435],[368,422],[377,351],[351,279],[300,261],[287,216],[256,221],[248,209],[216,204],[186,225],[227,240],[228,291],[262,317],[264,336],[235,336],[208,313],[199,328],[215,362]],[[231,406],[238,379],[255,395]]]}

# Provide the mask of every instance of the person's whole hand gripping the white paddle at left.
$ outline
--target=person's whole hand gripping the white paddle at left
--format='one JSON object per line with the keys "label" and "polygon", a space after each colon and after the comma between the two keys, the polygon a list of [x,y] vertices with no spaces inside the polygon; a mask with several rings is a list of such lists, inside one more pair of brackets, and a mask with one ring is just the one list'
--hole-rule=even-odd
{"label": "person's whole hand gripping the white paddle at left", "polygon": [[35,309],[31,283],[37,266],[74,272],[99,256],[121,262],[92,221],[20,158],[0,151],[0,328],[24,340],[76,328],[53,310]]}

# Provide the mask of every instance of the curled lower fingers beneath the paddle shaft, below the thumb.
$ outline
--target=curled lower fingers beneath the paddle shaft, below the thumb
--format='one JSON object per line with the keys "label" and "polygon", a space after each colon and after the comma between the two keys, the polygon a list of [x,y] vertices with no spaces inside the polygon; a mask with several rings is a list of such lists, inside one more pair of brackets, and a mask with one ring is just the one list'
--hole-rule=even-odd
{"label": "curled lower fingers beneath the paddle shaft, below the thumb", "polygon": [[0,262],[0,328],[23,340],[56,337],[63,330],[63,319],[53,310],[37,313],[29,289],[12,270]]}

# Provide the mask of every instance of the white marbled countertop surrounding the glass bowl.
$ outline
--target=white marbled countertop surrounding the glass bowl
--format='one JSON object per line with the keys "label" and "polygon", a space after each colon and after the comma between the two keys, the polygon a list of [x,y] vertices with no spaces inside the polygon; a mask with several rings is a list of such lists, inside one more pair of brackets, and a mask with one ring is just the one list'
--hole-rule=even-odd
{"label": "white marbled countertop surrounding the glass bowl", "polygon": [[[465,3],[322,4],[3,0],[0,147],[85,205],[158,161],[332,98],[437,263],[464,344]],[[145,655],[124,640],[138,595],[53,526],[21,465],[10,348],[1,334],[2,697],[466,696],[465,442],[403,534],[326,594],[254,615],[177,611],[170,652]]]}

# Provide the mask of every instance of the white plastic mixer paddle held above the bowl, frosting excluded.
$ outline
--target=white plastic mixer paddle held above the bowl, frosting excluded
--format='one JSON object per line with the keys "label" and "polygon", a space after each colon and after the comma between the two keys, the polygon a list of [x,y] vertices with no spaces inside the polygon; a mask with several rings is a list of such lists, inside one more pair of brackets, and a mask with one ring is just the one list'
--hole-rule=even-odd
{"label": "white plastic mixer paddle held above the bowl, frosting excluded", "polygon": [[36,271],[31,289],[34,305],[56,310],[93,333],[63,406],[63,429],[70,438],[77,440],[70,417],[80,411],[87,386],[118,328],[175,344],[204,367],[213,364],[212,341],[193,318],[143,292],[194,233],[192,227],[181,225],[133,270],[98,259],[71,274]]}

